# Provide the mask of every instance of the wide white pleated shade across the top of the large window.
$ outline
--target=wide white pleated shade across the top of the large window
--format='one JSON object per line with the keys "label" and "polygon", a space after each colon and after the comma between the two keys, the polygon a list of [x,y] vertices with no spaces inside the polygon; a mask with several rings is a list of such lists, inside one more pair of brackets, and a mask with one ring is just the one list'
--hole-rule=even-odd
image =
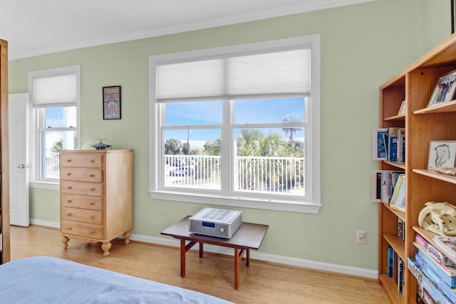
{"label": "wide white pleated shade across the top of the large window", "polygon": [[310,94],[311,50],[269,50],[156,66],[157,103]]}

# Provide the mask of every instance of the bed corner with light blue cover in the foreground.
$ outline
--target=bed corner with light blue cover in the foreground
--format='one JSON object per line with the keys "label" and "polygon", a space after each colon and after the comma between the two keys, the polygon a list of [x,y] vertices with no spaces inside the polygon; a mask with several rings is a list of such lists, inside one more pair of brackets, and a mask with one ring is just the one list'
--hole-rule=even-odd
{"label": "bed corner with light blue cover in the foreground", "polygon": [[193,290],[46,256],[0,265],[0,302],[231,303]]}

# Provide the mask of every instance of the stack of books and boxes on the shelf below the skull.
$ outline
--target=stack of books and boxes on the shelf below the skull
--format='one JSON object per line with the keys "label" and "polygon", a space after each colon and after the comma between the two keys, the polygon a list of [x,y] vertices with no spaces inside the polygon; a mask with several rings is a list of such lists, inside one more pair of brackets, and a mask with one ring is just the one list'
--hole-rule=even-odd
{"label": "stack of books and boxes on the shelf below the skull", "polygon": [[[437,242],[436,242],[437,244]],[[456,303],[456,264],[442,253],[440,246],[415,235],[415,258],[408,268],[418,282],[417,303]]]}

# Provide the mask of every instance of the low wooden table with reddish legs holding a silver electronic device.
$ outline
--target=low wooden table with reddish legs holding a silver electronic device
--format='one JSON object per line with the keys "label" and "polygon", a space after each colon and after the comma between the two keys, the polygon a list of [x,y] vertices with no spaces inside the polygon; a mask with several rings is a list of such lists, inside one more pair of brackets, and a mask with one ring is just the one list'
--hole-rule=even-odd
{"label": "low wooden table with reddish legs holding a silver electronic device", "polygon": [[[239,261],[244,253],[246,254],[246,265],[249,267],[250,249],[258,250],[261,242],[268,231],[268,225],[242,223],[231,239],[222,239],[214,236],[204,236],[201,234],[192,234],[189,232],[189,216],[172,224],[161,234],[172,236],[180,239],[180,276],[185,278],[185,253],[190,250],[196,243],[199,243],[199,258],[203,256],[203,244],[234,248],[234,289],[239,289]],[[186,244],[186,241],[190,241]]]}

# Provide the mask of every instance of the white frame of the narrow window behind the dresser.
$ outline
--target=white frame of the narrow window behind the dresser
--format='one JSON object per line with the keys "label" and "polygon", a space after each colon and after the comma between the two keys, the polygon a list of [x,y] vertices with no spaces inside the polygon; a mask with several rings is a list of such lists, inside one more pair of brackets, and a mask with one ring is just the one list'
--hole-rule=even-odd
{"label": "white frame of the narrow window behind the dresser", "polygon": [[[33,166],[30,172],[30,186],[41,189],[59,189],[60,180],[41,177],[41,129],[40,125],[43,123],[41,113],[43,108],[33,108],[33,80],[36,78],[48,78],[61,75],[76,75],[76,100],[72,103],[49,103],[52,107],[65,107],[76,106],[77,126],[72,127],[71,130],[76,131],[77,147],[81,147],[81,65],[71,65],[62,68],[51,68],[46,70],[34,70],[28,73],[28,95],[31,110],[32,122],[30,125],[31,145],[30,155],[33,159]],[[56,130],[70,130],[69,128],[56,128]]]}

